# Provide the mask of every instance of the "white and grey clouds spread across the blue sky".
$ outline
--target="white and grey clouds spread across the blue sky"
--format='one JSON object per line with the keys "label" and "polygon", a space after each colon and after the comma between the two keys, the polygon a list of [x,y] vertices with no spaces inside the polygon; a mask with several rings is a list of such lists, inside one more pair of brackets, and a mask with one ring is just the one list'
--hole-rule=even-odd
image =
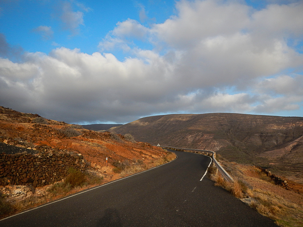
{"label": "white and grey clouds spread across the blue sky", "polygon": [[[302,109],[302,1],[257,10],[237,1],[183,0],[176,9],[149,27],[117,22],[100,41],[101,53],[61,47],[26,53],[22,62],[0,58],[0,104],[68,123]],[[84,24],[69,5],[62,21],[74,33]],[[37,31],[48,34],[48,27]],[[119,61],[112,50],[129,57]]]}

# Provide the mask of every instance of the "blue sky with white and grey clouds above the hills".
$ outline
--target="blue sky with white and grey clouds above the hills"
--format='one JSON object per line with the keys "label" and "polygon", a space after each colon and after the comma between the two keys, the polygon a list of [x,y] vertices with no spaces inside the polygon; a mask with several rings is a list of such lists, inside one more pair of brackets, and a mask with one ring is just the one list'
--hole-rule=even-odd
{"label": "blue sky with white and grey clouds above the hills", "polygon": [[79,124],[303,117],[302,12],[302,0],[0,0],[0,106]]}

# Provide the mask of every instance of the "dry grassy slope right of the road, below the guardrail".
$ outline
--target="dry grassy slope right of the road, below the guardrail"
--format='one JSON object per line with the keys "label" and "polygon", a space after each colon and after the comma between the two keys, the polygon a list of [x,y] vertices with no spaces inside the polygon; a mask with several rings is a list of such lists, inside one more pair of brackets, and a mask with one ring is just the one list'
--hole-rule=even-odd
{"label": "dry grassy slope right of the road, below the guardrail", "polygon": [[278,195],[277,190],[286,189],[276,186],[274,181],[259,168],[229,163],[220,155],[217,155],[217,160],[234,182],[225,181],[217,169],[211,166],[210,178],[215,181],[215,185],[225,188],[260,214],[274,219],[277,225],[303,226],[303,204],[296,204]]}

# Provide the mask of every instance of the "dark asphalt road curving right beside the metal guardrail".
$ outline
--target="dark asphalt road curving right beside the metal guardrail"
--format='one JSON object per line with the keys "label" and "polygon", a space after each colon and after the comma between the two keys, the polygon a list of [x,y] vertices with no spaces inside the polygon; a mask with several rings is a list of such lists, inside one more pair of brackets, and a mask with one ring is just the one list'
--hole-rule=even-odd
{"label": "dark asphalt road curving right beside the metal guardrail", "polygon": [[0,226],[277,226],[207,177],[200,181],[210,157],[175,153],[178,158],[163,166],[3,219]]}

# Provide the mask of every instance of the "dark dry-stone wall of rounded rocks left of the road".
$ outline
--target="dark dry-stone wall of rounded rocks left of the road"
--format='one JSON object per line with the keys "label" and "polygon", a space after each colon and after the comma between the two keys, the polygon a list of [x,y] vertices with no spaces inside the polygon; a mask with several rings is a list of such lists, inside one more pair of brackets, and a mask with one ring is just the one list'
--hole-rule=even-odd
{"label": "dark dry-stone wall of rounded rocks left of the road", "polygon": [[0,185],[45,186],[62,180],[68,169],[86,169],[81,154],[0,153]]}

